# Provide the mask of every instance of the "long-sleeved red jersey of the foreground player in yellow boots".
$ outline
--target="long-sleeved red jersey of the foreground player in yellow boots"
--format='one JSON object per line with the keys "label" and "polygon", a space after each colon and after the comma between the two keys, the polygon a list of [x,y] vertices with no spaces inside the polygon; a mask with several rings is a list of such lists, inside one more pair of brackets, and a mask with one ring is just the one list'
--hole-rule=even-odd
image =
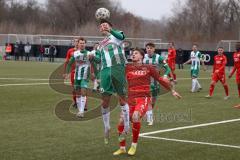
{"label": "long-sleeved red jersey of the foreground player in yellow boots", "polygon": [[160,77],[154,66],[128,64],[126,66],[128,98],[151,97],[151,77],[157,80],[164,88],[170,90],[170,83]]}

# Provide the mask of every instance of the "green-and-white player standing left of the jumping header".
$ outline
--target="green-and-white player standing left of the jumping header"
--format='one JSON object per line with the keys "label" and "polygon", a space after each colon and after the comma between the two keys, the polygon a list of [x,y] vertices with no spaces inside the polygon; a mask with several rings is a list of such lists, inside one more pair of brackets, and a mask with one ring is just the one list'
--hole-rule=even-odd
{"label": "green-and-white player standing left of the jumping header", "polygon": [[74,88],[77,95],[77,107],[79,112],[77,117],[84,117],[84,107],[86,105],[86,92],[90,74],[90,62],[88,60],[89,51],[85,49],[86,40],[84,38],[78,39],[78,50],[73,53],[67,64],[67,76],[69,77],[70,69],[72,64],[76,65],[75,76],[74,76]]}

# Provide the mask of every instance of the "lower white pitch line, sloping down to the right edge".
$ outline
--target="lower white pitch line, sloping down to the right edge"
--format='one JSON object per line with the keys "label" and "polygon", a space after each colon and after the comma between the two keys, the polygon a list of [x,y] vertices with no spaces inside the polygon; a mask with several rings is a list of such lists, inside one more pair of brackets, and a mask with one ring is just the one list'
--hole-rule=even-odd
{"label": "lower white pitch line, sloping down to the right edge", "polygon": [[210,145],[210,146],[218,146],[218,147],[227,147],[227,148],[236,148],[236,149],[240,149],[240,146],[227,145],[227,144],[208,143],[208,142],[198,142],[198,141],[189,141],[189,140],[171,139],[171,138],[153,137],[153,136],[141,136],[141,137],[143,137],[143,138],[148,138],[148,139],[158,139],[158,140],[173,141],[173,142],[181,142],[181,143],[192,143],[192,144],[201,144],[201,145]]}

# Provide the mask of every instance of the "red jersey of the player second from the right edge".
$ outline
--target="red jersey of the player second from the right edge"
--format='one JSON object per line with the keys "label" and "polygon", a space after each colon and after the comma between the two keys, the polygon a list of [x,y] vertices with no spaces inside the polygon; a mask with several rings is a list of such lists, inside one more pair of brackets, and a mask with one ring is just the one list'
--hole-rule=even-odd
{"label": "red jersey of the player second from the right edge", "polygon": [[213,73],[218,70],[218,73],[225,74],[225,66],[227,64],[227,57],[225,55],[214,56]]}

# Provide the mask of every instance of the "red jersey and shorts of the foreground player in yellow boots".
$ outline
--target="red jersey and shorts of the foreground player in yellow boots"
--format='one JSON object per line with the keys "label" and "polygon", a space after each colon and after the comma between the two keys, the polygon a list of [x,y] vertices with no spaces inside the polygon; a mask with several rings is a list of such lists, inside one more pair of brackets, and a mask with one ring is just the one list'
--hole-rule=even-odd
{"label": "red jersey and shorts of the foreground player in yellow boots", "polygon": [[160,77],[154,66],[144,64],[128,64],[126,66],[130,117],[134,111],[139,111],[141,117],[147,112],[151,99],[151,77],[170,90],[170,84]]}

